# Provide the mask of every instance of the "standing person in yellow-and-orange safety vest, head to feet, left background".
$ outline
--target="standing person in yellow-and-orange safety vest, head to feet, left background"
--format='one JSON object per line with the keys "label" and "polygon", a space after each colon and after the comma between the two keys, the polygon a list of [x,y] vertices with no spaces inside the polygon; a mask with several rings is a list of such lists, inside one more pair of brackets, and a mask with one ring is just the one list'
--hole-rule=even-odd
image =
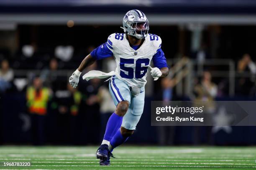
{"label": "standing person in yellow-and-orange safety vest, head to feet, left background", "polygon": [[34,145],[43,145],[45,142],[45,117],[50,97],[51,90],[44,87],[42,80],[36,77],[33,80],[33,85],[27,89],[27,106],[32,119]]}

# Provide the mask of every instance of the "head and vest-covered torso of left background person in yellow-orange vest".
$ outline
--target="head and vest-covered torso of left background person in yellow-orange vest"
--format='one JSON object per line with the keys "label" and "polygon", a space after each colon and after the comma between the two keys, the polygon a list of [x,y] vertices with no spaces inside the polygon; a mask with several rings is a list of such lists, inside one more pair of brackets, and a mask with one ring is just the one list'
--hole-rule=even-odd
{"label": "head and vest-covered torso of left background person in yellow-orange vest", "polygon": [[27,106],[29,112],[37,115],[46,115],[49,97],[49,88],[43,87],[42,80],[36,77],[33,80],[33,86],[27,89]]}

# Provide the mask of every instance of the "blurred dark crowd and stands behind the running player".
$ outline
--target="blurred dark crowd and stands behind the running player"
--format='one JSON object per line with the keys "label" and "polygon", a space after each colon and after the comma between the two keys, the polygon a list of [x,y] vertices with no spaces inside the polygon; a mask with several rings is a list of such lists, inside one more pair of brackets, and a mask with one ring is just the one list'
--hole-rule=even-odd
{"label": "blurred dark crowd and stands behind the running player", "polygon": [[[68,83],[68,78],[90,51],[100,43],[104,43],[113,30],[117,30],[116,28],[111,30],[112,28],[106,30],[105,26],[103,28],[85,26],[79,28],[79,31],[73,30],[71,35],[64,26],[43,26],[41,32],[32,34],[35,29],[33,27],[19,28],[21,33],[18,36],[19,45],[16,50],[8,48],[0,50],[0,121],[3,122],[0,142],[34,145],[48,143],[84,145],[100,142],[108,117],[115,110],[108,92],[108,82],[100,79],[86,82],[81,79],[78,88],[73,89]],[[97,40],[91,35],[86,35],[84,38],[83,30],[86,29],[89,30],[88,32],[94,30],[101,34],[98,35]],[[171,71],[168,77],[157,82],[153,82],[148,75],[146,108],[138,129],[145,126],[149,134],[142,135],[143,140],[138,135],[131,140],[131,143],[138,141],[160,145],[182,143],[175,141],[177,138],[175,135],[180,129],[150,127],[148,106],[151,100],[255,100],[256,64],[250,50],[246,51],[248,49],[246,43],[241,46],[242,50],[234,49],[235,46],[224,50],[216,47],[212,50],[210,48],[212,41],[207,39],[209,30],[202,32],[200,37],[197,30],[190,33],[180,31],[179,35],[176,35],[176,29],[152,27],[154,33],[163,39],[162,49]],[[57,30],[60,31],[59,34]],[[169,30],[175,31],[170,33]],[[48,33],[50,36],[46,35]],[[180,39],[185,36],[184,34],[192,45],[184,42],[186,39]],[[79,35],[82,38],[79,38]],[[176,39],[172,39],[172,36]],[[221,41],[221,37],[219,39]],[[232,41],[232,38],[226,39],[225,42],[229,40]],[[232,57],[227,54],[237,55]],[[255,55],[254,51],[252,54]],[[110,72],[115,70],[115,67],[113,58],[108,58],[93,64],[84,73],[89,70]],[[204,130],[204,134],[212,136],[212,127]],[[150,135],[150,131],[156,134]],[[212,137],[201,140],[202,134],[199,133],[199,128],[195,128],[192,140],[184,143],[216,144]],[[19,136],[14,137],[13,134]],[[90,138],[87,138],[89,136]],[[180,140],[186,141],[182,138]]]}

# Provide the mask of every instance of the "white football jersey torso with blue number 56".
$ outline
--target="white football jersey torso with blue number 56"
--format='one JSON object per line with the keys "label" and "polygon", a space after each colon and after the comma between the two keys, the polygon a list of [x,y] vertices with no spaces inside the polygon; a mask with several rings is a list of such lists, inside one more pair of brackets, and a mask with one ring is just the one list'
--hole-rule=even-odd
{"label": "white football jersey torso with blue number 56", "polygon": [[113,52],[115,75],[130,87],[143,87],[146,84],[148,65],[157,50],[161,48],[161,38],[148,34],[143,44],[134,50],[124,33],[114,33],[108,37],[107,47]]}

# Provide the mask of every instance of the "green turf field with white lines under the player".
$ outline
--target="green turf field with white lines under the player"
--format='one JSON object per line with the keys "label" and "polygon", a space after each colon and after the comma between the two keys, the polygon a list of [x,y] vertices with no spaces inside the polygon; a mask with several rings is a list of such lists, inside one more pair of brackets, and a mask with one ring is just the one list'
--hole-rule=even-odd
{"label": "green turf field with white lines under the player", "polygon": [[[114,150],[111,166],[99,166],[97,147],[0,147],[0,169],[79,170],[250,170],[256,169],[256,147],[143,147]],[[31,166],[3,166],[29,162]]]}

